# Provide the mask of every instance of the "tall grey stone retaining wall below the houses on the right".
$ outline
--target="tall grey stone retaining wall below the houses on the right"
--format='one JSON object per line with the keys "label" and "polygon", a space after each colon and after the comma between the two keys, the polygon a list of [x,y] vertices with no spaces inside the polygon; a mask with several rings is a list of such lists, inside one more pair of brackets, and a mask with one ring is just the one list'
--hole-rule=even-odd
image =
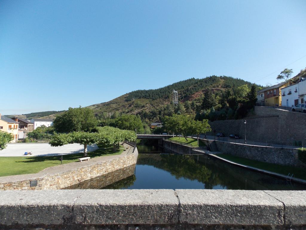
{"label": "tall grey stone retaining wall below the houses on the right", "polygon": [[[248,140],[263,141],[303,141],[306,143],[306,114],[288,112],[279,109],[255,106],[255,113],[265,118],[239,120],[209,121],[212,130],[222,132],[226,136],[238,134],[244,137],[246,120],[246,137]],[[278,117],[271,117],[278,116]],[[214,135],[214,133],[210,133]]]}

